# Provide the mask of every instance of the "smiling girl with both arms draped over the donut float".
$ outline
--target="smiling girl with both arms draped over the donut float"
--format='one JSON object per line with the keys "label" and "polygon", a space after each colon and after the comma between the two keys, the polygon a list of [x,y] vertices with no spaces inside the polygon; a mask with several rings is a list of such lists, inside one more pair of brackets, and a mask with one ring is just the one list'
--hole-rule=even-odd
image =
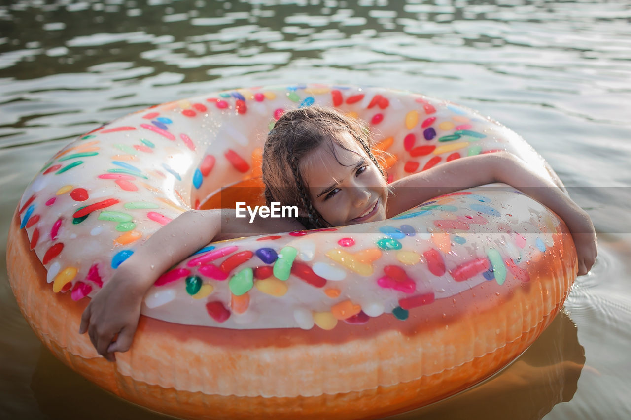
{"label": "smiling girl with both arms draped over the donut float", "polygon": [[234,209],[181,214],[143,243],[92,298],[80,333],[88,331],[98,353],[114,361],[115,352],[131,346],[147,289],[208,242],[379,221],[437,195],[492,182],[523,190],[565,221],[576,245],[579,275],[594,264],[596,233],[587,213],[515,156],[500,152],[462,158],[388,185],[369,144],[367,129],[336,110],[286,112],[265,143],[262,178],[268,204],[298,206],[298,219],[255,218],[249,223],[237,218]]}

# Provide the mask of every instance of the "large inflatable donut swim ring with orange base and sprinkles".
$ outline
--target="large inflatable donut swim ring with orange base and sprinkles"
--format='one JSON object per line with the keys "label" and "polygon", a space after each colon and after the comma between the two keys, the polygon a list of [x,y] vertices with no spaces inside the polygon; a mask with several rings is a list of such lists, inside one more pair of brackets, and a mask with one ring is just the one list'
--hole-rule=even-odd
{"label": "large inflatable donut swim ring with orange base and sprinkles", "polygon": [[500,149],[555,177],[514,132],[423,95],[271,86],[158,105],[78,137],[28,185],[8,267],[40,339],[114,394],[188,418],[381,417],[521,354],[563,305],[577,260],[564,223],[506,186],[382,222],[213,243],[151,287],[115,363],[77,334],[85,297],[152,233],[240,190],[218,201],[222,187],[260,185],[274,119],[312,104],[369,122],[390,180]]}

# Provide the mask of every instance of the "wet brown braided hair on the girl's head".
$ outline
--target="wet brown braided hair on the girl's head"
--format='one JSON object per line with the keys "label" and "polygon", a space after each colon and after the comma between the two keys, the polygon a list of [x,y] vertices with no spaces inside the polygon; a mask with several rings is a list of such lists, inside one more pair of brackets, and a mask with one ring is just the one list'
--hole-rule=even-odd
{"label": "wet brown braided hair on the girl's head", "polygon": [[[300,160],[321,144],[333,143],[346,148],[339,134],[348,132],[362,146],[366,155],[384,175],[381,165],[370,149],[370,133],[360,119],[348,117],[333,108],[305,107],[285,112],[274,124],[265,142],[262,155],[262,180],[265,201],[283,206],[298,206],[308,214],[298,220],[308,229],[323,228],[327,221],[314,208],[307,185],[300,172]],[[384,175],[385,178],[385,175]]]}

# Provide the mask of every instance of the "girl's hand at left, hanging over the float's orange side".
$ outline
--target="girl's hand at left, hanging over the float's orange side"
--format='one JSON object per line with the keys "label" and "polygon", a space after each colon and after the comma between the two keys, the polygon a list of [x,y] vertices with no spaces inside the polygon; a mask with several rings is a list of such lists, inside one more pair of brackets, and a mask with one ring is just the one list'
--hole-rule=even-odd
{"label": "girl's hand at left, hanging over the float's orange side", "polygon": [[114,352],[129,350],[138,327],[146,290],[135,285],[133,274],[121,265],[81,315],[79,334],[87,331],[98,354],[109,361],[116,360]]}

